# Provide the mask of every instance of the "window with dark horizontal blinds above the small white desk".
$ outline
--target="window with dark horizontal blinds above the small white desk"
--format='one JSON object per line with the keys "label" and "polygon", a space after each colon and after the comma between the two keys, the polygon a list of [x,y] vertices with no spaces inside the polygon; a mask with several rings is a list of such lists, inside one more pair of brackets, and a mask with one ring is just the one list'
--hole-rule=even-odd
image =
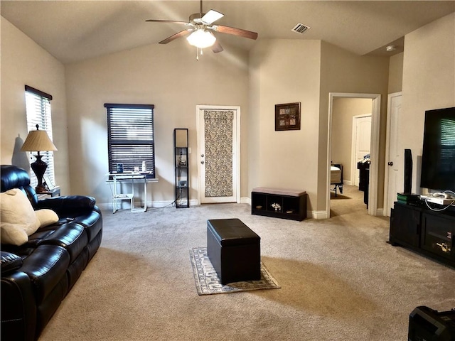
{"label": "window with dark horizontal blinds above the small white desk", "polygon": [[146,161],[147,175],[155,178],[155,136],[153,104],[109,104],[107,108],[107,149],[109,172],[134,171]]}

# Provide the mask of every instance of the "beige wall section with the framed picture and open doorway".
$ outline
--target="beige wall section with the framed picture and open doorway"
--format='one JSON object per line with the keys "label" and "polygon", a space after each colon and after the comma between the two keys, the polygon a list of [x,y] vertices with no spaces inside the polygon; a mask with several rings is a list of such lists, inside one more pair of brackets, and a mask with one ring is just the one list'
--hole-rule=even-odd
{"label": "beige wall section with the framed picture and open doorway", "polygon": [[[259,40],[250,53],[250,190],[306,190],[309,210],[315,217],[326,215],[328,94],[382,94],[385,126],[388,63],[388,58],[360,57],[321,40]],[[301,102],[301,130],[274,131],[274,104],[288,102]],[[382,170],[382,183],[383,175]]]}

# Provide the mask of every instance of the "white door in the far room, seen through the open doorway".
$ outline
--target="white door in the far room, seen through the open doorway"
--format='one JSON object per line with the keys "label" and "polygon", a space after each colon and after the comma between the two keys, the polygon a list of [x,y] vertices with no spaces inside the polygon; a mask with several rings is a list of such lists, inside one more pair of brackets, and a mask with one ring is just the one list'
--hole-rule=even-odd
{"label": "white door in the far room, seen through the open doorway", "polygon": [[371,144],[371,114],[353,117],[353,164],[351,168],[351,183],[359,184],[358,161],[370,153]]}

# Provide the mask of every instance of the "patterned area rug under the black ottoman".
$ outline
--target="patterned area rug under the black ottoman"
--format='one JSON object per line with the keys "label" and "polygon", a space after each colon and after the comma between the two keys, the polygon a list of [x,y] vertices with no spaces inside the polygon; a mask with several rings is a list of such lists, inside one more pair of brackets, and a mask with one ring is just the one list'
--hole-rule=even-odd
{"label": "patterned area rug under the black ottoman", "polygon": [[213,269],[210,259],[208,259],[206,247],[191,249],[190,259],[198,295],[281,288],[262,262],[261,279],[259,281],[242,281],[223,285],[220,283],[220,278],[218,278],[215,269]]}

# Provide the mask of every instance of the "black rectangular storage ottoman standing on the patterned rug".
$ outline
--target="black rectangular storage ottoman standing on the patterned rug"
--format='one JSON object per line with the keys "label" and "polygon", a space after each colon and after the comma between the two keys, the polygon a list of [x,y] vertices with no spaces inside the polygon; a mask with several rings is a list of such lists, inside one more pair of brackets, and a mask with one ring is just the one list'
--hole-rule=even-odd
{"label": "black rectangular storage ottoman standing on the patterned rug", "polygon": [[260,241],[239,219],[207,221],[207,255],[222,284],[261,279]]}

